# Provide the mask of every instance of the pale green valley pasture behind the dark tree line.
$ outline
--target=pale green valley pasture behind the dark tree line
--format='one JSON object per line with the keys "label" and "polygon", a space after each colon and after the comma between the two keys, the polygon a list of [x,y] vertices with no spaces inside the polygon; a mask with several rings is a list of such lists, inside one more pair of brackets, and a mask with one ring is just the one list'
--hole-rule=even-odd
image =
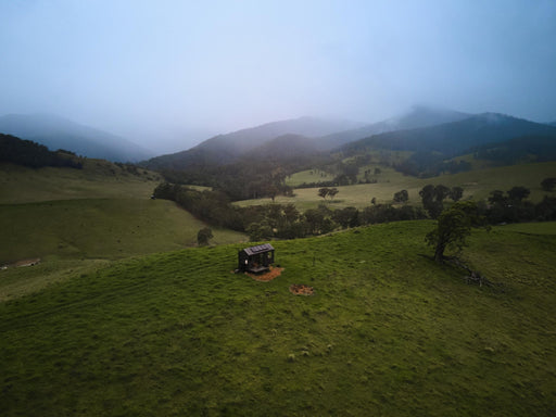
{"label": "pale green valley pasture behind the dark tree line", "polygon": [[[372,168],[372,166],[364,167],[362,170],[369,168]],[[306,175],[306,172],[304,172],[303,175]],[[392,168],[381,167],[381,174],[371,176],[374,179],[377,179],[377,184],[338,187],[339,193],[333,200],[327,199],[326,202],[330,204],[331,207],[343,208],[354,206],[363,208],[370,205],[372,198],[376,198],[378,204],[392,204],[395,192],[407,190],[409,194],[408,203],[418,205],[421,202],[419,191],[428,184],[462,187],[464,189],[464,199],[472,199],[476,201],[486,199],[491,191],[507,191],[515,186],[521,186],[531,190],[529,197],[531,201],[539,202],[544,195],[554,195],[556,193],[546,192],[541,188],[541,181],[544,178],[555,176],[556,162],[485,168],[453,175],[446,174],[432,178],[404,176]],[[315,208],[325,201],[323,198],[318,197],[318,188],[295,189],[294,194],[294,197],[279,195],[275,201],[281,204],[292,203],[302,211]],[[257,199],[241,201],[237,204],[248,206],[268,204],[270,202],[270,199]]]}

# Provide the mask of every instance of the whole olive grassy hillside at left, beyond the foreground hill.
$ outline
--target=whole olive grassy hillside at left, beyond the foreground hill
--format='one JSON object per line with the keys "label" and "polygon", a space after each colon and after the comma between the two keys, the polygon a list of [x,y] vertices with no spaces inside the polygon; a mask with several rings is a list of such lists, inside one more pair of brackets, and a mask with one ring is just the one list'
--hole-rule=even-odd
{"label": "whole olive grassy hillside at left, beyond the foreground hill", "polygon": [[[149,199],[156,174],[130,175],[87,160],[85,168],[0,164],[0,265],[41,257],[34,268],[0,275],[0,301],[37,291],[118,260],[197,244],[206,225],[168,201]],[[244,240],[213,229],[212,243]]]}

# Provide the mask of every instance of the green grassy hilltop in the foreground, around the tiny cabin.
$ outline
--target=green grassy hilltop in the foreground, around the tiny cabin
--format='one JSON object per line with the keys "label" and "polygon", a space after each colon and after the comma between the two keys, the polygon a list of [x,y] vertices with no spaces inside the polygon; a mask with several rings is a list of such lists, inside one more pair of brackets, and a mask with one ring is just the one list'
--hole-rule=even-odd
{"label": "green grassy hilltop in the foreground, around the tiny cabin", "polygon": [[273,242],[270,282],[201,248],[0,304],[0,414],[553,415],[556,236],[473,231],[500,291],[431,261],[432,226]]}

